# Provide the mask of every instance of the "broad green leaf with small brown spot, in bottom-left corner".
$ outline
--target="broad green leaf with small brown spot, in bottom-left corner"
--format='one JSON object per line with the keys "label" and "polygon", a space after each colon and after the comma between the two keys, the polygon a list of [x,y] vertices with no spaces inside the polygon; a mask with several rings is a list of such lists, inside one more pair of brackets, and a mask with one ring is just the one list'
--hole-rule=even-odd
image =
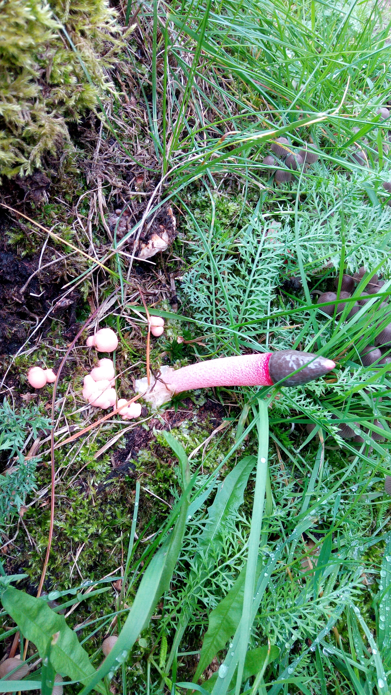
{"label": "broad green leaf with small brown spot, in bottom-left corner", "polygon": [[[50,660],[56,673],[64,673],[71,680],[85,682],[95,673],[88,653],[78,643],[76,633],[67,626],[65,617],[49,608],[42,598],[8,587],[1,597],[3,607],[22,630],[26,639],[35,644],[43,659],[49,651],[51,639],[59,632],[56,644],[51,646]],[[100,678],[99,678],[100,680]],[[97,686],[99,684],[97,680]],[[100,692],[106,692],[103,685]]]}

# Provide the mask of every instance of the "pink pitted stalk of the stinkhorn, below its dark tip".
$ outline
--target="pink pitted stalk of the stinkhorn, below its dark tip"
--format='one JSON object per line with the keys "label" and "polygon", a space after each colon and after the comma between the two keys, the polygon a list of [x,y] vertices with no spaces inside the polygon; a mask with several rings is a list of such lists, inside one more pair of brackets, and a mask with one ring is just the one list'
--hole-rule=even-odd
{"label": "pink pitted stalk of the stinkhorn, below its dark tip", "polygon": [[220,357],[182,367],[167,377],[174,393],[206,389],[208,386],[273,386],[269,377],[272,352]]}

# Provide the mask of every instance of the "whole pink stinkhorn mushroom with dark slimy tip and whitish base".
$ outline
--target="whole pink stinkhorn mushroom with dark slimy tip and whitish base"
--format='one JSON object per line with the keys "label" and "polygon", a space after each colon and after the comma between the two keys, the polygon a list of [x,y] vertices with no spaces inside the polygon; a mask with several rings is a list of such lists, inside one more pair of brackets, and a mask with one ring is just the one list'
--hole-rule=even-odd
{"label": "whole pink stinkhorn mushroom with dark slimy tip and whitish base", "polygon": [[[147,377],[135,382],[136,393],[153,407],[160,407],[174,393],[206,389],[211,386],[273,386],[283,379],[284,386],[306,384],[335,368],[335,363],[310,352],[281,350],[263,354],[244,354],[239,357],[222,357],[174,370],[160,368],[160,377]],[[299,370],[296,374],[293,374]]]}

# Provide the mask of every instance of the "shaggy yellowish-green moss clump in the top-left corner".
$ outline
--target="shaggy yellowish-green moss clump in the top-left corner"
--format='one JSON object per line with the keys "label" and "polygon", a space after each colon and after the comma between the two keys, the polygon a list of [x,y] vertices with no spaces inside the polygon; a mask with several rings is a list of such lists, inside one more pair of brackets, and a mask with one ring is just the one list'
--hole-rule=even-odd
{"label": "shaggy yellowish-green moss clump in the top-left corner", "polygon": [[[67,123],[113,92],[106,69],[122,46],[105,0],[0,3],[0,175],[31,174],[42,157],[71,149]],[[76,46],[72,50],[62,26]]]}

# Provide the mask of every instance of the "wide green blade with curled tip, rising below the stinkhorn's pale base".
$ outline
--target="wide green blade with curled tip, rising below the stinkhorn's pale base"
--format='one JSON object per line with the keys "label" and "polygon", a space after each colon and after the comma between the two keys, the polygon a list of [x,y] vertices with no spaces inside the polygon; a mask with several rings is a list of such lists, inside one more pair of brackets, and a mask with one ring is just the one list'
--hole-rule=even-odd
{"label": "wide green blade with curled tip, rising below the stinkhorn's pale base", "polygon": [[181,550],[186,519],[188,518],[188,497],[190,496],[191,485],[190,468],[183,448],[181,445],[178,445],[178,442],[171,435],[166,439],[170,446],[173,444],[172,449],[178,458],[182,459],[184,492],[179,502],[181,505],[179,516],[171,534],[169,534],[163,546],[153,556],[144,572],[140,587],[138,587],[135,595],[135,600],[115,646],[79,695],[87,695],[99,680],[107,676],[108,673],[114,673],[120,664],[126,662],[129,651],[136,639],[138,639],[140,632],[147,627],[160,596],[169,588],[169,582],[171,582],[172,573]]}

